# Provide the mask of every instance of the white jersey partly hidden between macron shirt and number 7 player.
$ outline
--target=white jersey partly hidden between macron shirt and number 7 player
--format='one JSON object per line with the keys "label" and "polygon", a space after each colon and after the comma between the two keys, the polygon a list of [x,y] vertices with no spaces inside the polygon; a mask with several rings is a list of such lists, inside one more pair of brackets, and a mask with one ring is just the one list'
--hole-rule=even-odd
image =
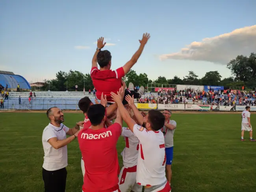
{"label": "white jersey partly hidden between macron shirt and number 7 player", "polygon": [[128,127],[122,127],[122,136],[125,140],[125,148],[121,153],[124,167],[133,167],[138,161],[139,139]]}

